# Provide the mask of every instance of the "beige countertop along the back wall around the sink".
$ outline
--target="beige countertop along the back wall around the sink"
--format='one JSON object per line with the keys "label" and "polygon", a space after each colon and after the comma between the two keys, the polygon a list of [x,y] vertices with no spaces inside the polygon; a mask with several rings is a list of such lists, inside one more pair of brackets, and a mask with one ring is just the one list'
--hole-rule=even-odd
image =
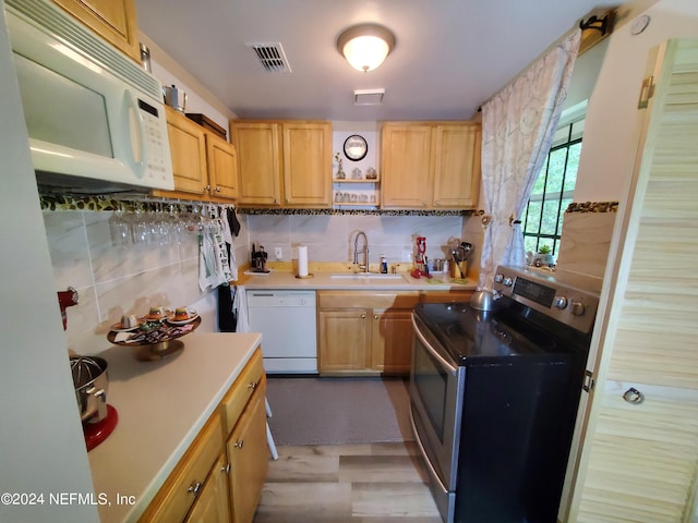
{"label": "beige countertop along the back wall around the sink", "polygon": [[[474,290],[477,281],[466,280],[466,283],[456,283],[448,275],[438,275],[429,278],[412,278],[407,273],[385,275],[389,279],[365,278],[356,275],[351,278],[333,278],[337,272],[314,272],[312,278],[296,278],[290,271],[273,270],[264,276],[244,276],[238,282],[246,289],[292,289],[292,290],[395,290],[395,291],[449,291]],[[342,275],[345,276],[345,275]],[[349,273],[347,273],[349,276]],[[397,277],[397,278],[393,278]]]}

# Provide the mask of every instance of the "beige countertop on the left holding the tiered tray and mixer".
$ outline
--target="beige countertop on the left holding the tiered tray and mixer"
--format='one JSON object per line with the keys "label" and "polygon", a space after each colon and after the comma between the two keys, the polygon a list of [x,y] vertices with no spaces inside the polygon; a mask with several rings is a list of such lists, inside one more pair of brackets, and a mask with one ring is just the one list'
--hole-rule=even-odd
{"label": "beige countertop on the left holding the tiered tray and mixer", "polygon": [[[88,453],[101,523],[136,521],[260,345],[258,333],[198,333],[159,362],[135,348],[109,345],[107,402],[119,414],[115,431]],[[132,496],[134,504],[117,504]]]}

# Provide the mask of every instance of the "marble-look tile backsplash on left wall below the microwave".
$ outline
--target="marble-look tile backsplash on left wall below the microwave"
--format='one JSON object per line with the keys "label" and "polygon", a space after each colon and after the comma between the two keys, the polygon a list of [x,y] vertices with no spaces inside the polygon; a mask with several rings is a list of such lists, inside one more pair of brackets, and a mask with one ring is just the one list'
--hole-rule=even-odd
{"label": "marble-look tile backsplash on left wall below the microwave", "polygon": [[[56,290],[73,287],[80,303],[68,308],[67,345],[79,354],[107,346],[109,327],[124,314],[151,306],[188,305],[202,315],[201,330],[216,330],[215,293],[198,288],[198,241],[184,235],[171,245],[111,244],[106,211],[45,211]],[[236,241],[246,248],[246,233]],[[244,238],[245,240],[243,240]],[[242,254],[241,254],[242,255]]]}

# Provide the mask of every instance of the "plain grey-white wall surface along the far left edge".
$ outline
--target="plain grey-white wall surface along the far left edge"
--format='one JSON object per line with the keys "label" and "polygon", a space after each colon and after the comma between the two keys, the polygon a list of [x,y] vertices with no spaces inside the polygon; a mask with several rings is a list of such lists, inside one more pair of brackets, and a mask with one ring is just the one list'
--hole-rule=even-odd
{"label": "plain grey-white wall surface along the far left edge", "polygon": [[94,506],[49,503],[93,486],[1,0],[0,93],[0,491],[45,496],[0,503],[0,521],[97,521]]}

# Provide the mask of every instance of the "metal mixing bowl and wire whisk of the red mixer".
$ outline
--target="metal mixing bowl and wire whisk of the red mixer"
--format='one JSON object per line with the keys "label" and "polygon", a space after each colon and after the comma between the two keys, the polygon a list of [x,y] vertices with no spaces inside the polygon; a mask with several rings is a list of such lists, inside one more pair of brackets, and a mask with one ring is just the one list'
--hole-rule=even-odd
{"label": "metal mixing bowl and wire whisk of the red mixer", "polygon": [[70,368],[80,417],[83,422],[101,421],[107,416],[107,361],[101,357],[71,356]]}

